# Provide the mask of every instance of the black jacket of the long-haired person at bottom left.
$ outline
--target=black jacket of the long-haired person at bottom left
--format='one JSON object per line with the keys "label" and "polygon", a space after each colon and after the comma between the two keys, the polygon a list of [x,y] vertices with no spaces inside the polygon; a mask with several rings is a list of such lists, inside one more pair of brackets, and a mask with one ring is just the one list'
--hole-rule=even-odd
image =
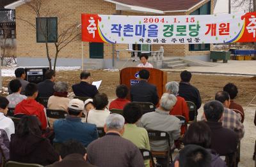
{"label": "black jacket of the long-haired person at bottom left", "polygon": [[59,160],[47,138],[28,134],[23,137],[11,135],[10,160],[20,163],[52,164]]}

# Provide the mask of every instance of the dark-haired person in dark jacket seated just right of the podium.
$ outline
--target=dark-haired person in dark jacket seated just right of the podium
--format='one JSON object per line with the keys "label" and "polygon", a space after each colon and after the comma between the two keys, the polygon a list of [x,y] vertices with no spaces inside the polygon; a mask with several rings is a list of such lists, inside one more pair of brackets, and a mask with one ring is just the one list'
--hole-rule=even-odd
{"label": "dark-haired person in dark jacket seated just right of the podium", "polygon": [[[198,110],[202,104],[201,96],[196,87],[191,85],[192,74],[185,70],[180,73],[180,84],[179,84],[179,96],[184,98],[186,101],[195,103],[196,110]],[[189,120],[194,120],[195,113],[189,112]]]}

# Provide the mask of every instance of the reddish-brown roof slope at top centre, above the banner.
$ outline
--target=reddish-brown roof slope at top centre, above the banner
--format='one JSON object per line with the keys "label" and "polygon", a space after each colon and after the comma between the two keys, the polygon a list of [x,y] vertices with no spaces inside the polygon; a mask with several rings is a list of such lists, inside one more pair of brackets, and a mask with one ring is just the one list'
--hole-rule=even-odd
{"label": "reddish-brown roof slope at top centre, above the banner", "polygon": [[140,6],[161,11],[189,10],[204,0],[113,0],[113,3]]}

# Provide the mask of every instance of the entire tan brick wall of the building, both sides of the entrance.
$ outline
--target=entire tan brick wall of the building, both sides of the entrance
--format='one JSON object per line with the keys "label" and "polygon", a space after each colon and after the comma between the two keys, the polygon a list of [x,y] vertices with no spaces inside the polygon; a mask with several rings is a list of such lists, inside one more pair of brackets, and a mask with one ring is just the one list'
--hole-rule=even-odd
{"label": "entire tan brick wall of the building, both sides of the entrance", "polygon": [[[203,5],[203,4],[202,4]],[[200,5],[200,6],[202,6]],[[196,6],[199,8],[200,6]],[[212,1],[213,6],[213,1]],[[113,13],[118,13],[119,11],[115,10],[115,4],[108,3],[102,0],[44,0],[43,11],[47,11],[46,8],[49,8],[51,13],[65,13],[63,18],[64,22],[58,24],[58,31],[72,24],[80,24],[81,22],[81,13],[97,13],[112,15]],[[195,10],[196,10],[195,8]],[[193,9],[194,10],[194,9]],[[191,11],[193,11],[191,10]],[[213,10],[213,7],[212,7]],[[164,15],[188,15],[186,12],[173,12],[166,13]],[[16,8],[16,25],[17,25],[17,56],[18,57],[45,57],[45,43],[36,43],[36,32],[35,29],[24,22],[23,20],[28,20],[35,25],[35,15],[31,15],[33,11],[29,9],[26,4]],[[46,15],[46,12],[43,12],[42,17],[56,17],[56,15]],[[128,11],[122,11],[121,15],[152,15],[145,13],[133,13]],[[22,18],[22,19],[20,19]],[[81,39],[81,37],[80,37]],[[161,45],[152,45],[152,50],[159,50]],[[205,55],[209,54],[209,51],[201,52],[189,52],[188,45],[163,45],[164,47],[164,56],[185,56],[185,55]],[[89,57],[89,43],[83,43],[84,48],[84,57]],[[114,46],[115,50],[125,50],[128,48],[127,44],[116,44]],[[55,47],[54,44],[49,44],[49,52],[52,58],[54,58]],[[80,58],[82,53],[82,43],[81,40],[74,41],[70,43],[67,47],[61,50],[59,57],[62,58]],[[111,59],[113,55],[113,45],[104,43],[104,58]],[[120,58],[130,57],[131,53],[129,52],[120,52]],[[116,56],[116,53],[115,53]]]}

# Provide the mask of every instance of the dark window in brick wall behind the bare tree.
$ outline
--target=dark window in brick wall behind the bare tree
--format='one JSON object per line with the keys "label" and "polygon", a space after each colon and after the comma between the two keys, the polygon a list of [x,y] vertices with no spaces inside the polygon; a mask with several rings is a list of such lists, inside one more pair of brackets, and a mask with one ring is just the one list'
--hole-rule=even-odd
{"label": "dark window in brick wall behind the bare tree", "polygon": [[58,18],[37,17],[36,18],[36,42],[56,43],[58,41]]}

